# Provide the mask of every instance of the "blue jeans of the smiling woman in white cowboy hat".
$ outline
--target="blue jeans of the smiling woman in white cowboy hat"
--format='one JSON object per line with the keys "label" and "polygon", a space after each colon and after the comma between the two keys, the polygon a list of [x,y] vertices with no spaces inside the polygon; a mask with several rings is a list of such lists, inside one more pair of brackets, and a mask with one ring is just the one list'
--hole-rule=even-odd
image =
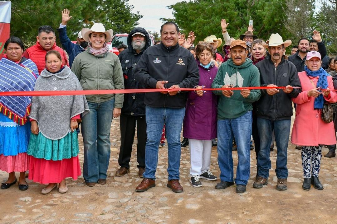
{"label": "blue jeans of the smiling woman in white cowboy hat", "polygon": [[83,178],[85,182],[106,179],[110,160],[110,129],[115,99],[89,102],[90,112],[82,117],[84,145]]}

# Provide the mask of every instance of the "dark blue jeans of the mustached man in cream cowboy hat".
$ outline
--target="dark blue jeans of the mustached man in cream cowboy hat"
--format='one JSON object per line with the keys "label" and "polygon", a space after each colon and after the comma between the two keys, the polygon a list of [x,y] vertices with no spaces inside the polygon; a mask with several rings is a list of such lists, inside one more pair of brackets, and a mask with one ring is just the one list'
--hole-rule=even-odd
{"label": "dark blue jeans of the mustached man in cream cowboy hat", "polygon": [[260,136],[260,151],[257,155],[258,176],[269,177],[271,161],[269,158],[270,144],[272,142],[272,132],[274,130],[275,142],[277,148],[276,176],[286,179],[288,177],[287,169],[287,148],[290,133],[290,119],[272,121],[264,118],[257,118],[258,135]]}

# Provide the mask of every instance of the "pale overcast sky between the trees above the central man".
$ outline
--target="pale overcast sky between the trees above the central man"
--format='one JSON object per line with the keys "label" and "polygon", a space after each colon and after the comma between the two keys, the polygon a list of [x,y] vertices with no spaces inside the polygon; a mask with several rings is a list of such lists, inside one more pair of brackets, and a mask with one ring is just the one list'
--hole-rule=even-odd
{"label": "pale overcast sky between the trees above the central man", "polygon": [[181,0],[129,0],[129,5],[134,5],[133,12],[139,11],[143,18],[139,20],[139,27],[144,27],[147,31],[156,31],[160,33],[160,26],[163,24],[160,18],[173,18],[172,10],[166,8],[167,5],[173,5]]}

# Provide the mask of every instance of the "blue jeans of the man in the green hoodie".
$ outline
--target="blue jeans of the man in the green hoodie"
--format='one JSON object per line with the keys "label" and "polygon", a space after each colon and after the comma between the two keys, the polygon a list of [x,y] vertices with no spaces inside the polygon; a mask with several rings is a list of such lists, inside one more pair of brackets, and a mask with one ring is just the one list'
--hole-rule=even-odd
{"label": "blue jeans of the man in the green hoodie", "polygon": [[247,185],[250,174],[250,135],[252,128],[252,112],[235,119],[218,120],[218,164],[220,180],[233,182],[233,137],[238,146],[238,167],[236,184]]}

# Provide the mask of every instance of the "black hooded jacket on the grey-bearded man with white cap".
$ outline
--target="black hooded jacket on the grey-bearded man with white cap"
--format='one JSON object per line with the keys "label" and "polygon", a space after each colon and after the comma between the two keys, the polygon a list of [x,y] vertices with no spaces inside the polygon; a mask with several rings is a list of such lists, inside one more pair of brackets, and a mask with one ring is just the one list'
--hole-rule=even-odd
{"label": "black hooded jacket on the grey-bearded man with white cap", "polygon": [[[145,47],[139,53],[136,53],[132,47],[132,34],[136,32],[141,32],[145,34]],[[118,58],[122,65],[123,76],[124,76],[124,88],[125,89],[138,89],[139,83],[134,77],[134,68],[141,58],[143,52],[151,46],[151,40],[148,32],[144,28],[136,27],[129,33],[127,37],[128,48],[123,50]],[[125,93],[124,103],[122,108],[122,114],[133,115],[133,116],[144,116],[145,115],[145,104],[144,104],[145,93]]]}

